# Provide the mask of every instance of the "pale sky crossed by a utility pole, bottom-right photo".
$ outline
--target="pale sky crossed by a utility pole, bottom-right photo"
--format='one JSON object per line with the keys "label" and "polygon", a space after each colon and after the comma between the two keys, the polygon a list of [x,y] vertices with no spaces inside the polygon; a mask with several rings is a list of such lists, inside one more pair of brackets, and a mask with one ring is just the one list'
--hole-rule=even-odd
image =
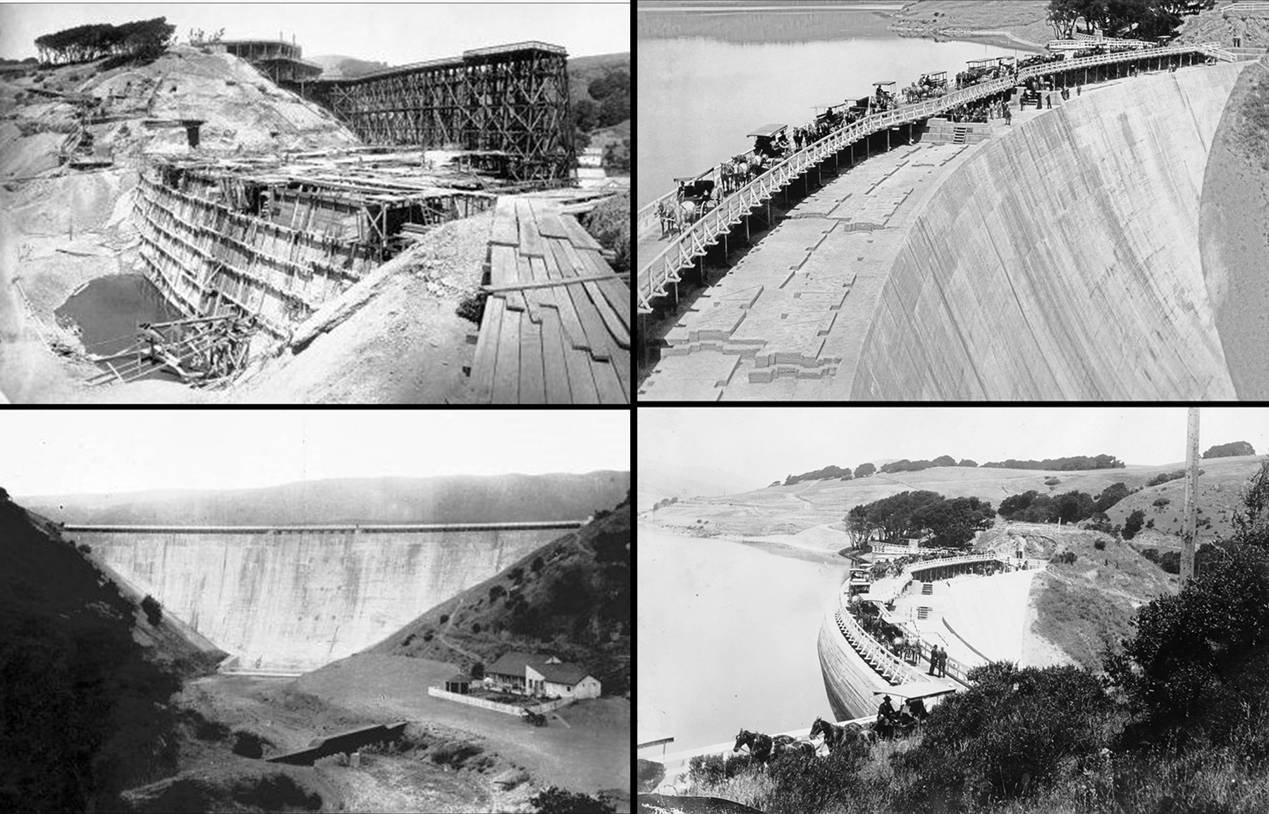
{"label": "pale sky crossed by a utility pole, bottom-right photo", "polygon": [[[638,459],[641,470],[661,462],[745,474],[753,488],[830,464],[939,455],[1170,464],[1185,460],[1185,407],[640,407]],[[1230,441],[1269,453],[1269,408],[1203,407],[1199,454]]]}

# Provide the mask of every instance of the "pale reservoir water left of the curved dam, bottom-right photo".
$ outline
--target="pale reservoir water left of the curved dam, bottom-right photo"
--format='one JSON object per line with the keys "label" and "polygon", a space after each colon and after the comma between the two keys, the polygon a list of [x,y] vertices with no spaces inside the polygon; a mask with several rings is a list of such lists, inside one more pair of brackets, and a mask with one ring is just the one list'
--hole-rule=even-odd
{"label": "pale reservoir water left of the curved dam, bottom-right photo", "polygon": [[816,634],[848,571],[640,525],[640,729],[676,752],[827,716]]}

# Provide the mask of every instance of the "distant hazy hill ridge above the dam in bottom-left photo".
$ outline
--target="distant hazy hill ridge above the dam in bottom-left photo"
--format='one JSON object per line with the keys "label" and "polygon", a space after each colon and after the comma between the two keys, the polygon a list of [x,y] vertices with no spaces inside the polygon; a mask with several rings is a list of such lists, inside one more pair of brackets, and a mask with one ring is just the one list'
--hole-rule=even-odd
{"label": "distant hazy hill ridge above the dam in bottom-left photo", "polygon": [[272,525],[581,520],[617,503],[628,472],[339,478],[260,489],[24,498],[62,522]]}

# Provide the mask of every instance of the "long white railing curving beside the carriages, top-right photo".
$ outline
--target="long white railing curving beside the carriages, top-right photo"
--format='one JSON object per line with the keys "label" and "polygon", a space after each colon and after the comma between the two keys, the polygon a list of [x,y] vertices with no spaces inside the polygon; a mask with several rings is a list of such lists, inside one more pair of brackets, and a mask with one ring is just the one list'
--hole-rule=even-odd
{"label": "long white railing curving beside the carriages, top-right photo", "polygon": [[[680,232],[665,249],[662,249],[648,262],[640,268],[637,304],[640,313],[652,312],[652,298],[665,297],[665,287],[676,283],[679,271],[690,266],[695,257],[703,256],[708,246],[717,241],[718,236],[731,224],[739,223],[745,214],[770,197],[777,189],[784,186],[810,167],[817,165],[831,155],[844,150],[846,146],[859,141],[865,136],[881,132],[895,124],[904,124],[928,119],[935,113],[956,108],[967,101],[975,101],[985,96],[1004,93],[1010,87],[1024,82],[1028,79],[1043,76],[1046,74],[1058,74],[1074,71],[1099,65],[1114,62],[1127,62],[1131,60],[1165,57],[1181,53],[1204,53],[1207,56],[1232,61],[1233,55],[1221,49],[1218,43],[1194,43],[1183,46],[1165,46],[1151,48],[1148,52],[1131,53],[1101,53],[1077,60],[1062,60],[1060,62],[1044,62],[1032,65],[1016,71],[1013,76],[990,80],[978,85],[971,85],[954,90],[937,99],[926,99],[911,105],[904,105],[893,110],[874,113],[836,129],[824,138],[803,147],[798,152],[784,158],[770,170],[759,175],[755,180],[723,198],[717,207],[703,214],[689,228]],[[702,172],[698,178],[714,179],[718,169],[713,167]],[[716,180],[717,183],[717,180]],[[645,223],[657,219],[656,207],[660,202],[674,195],[674,191],[661,195],[651,204],[638,210],[637,228],[642,233]],[[685,249],[687,245],[687,249]]]}

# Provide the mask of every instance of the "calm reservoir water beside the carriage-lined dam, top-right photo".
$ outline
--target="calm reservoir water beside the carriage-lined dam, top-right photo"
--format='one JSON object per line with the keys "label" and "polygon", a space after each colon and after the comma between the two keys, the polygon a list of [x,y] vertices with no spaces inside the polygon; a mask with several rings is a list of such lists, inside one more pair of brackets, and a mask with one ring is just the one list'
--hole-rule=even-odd
{"label": "calm reservoir water beside the carriage-lined dam, top-right photo", "polygon": [[902,38],[881,11],[638,13],[638,205],[753,147],[766,123],[801,126],[841,104],[923,74],[954,81],[966,61],[1025,52]]}

